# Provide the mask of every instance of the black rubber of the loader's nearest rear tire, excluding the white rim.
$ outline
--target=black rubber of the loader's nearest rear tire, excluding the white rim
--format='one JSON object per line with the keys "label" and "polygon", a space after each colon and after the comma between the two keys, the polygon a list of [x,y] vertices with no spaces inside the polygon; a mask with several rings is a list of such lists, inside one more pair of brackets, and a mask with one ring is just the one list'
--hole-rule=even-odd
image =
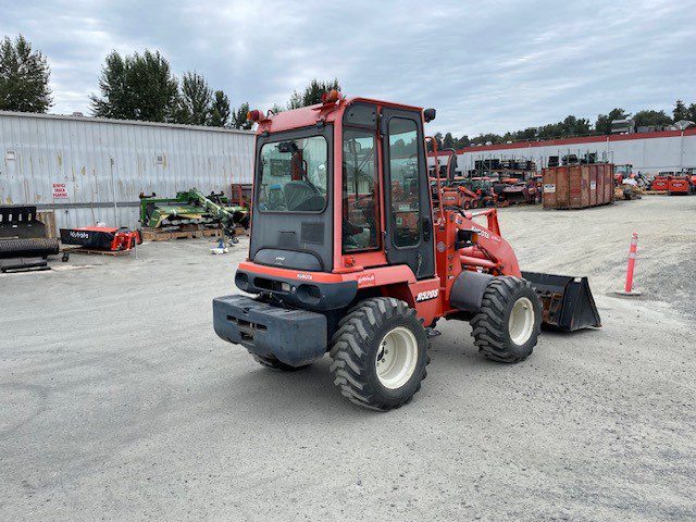
{"label": "black rubber of the loader's nearest rear tire, excluding the white rim", "polygon": [[[377,356],[384,353],[383,340],[395,328],[413,334],[417,353],[408,381],[394,388],[383,385],[377,375]],[[338,323],[332,338],[331,371],[334,384],[351,402],[373,410],[388,411],[409,402],[421,389],[428,361],[430,340],[415,310],[390,297],[365,299]],[[382,350],[382,351],[381,351]]]}

